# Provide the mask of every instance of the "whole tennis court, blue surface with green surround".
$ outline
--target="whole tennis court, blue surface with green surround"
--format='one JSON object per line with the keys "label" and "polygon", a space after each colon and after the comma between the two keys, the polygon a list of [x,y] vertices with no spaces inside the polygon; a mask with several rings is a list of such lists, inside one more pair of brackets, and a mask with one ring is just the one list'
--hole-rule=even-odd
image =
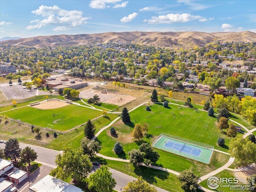
{"label": "whole tennis court, blue surface with green surround", "polygon": [[[172,152],[181,156],[185,156],[200,162],[209,164],[213,153],[213,146],[206,146],[199,142],[190,141],[185,138],[171,138],[168,136],[160,135],[153,142],[153,147],[159,148],[168,152]],[[192,144],[192,143],[196,144]]]}

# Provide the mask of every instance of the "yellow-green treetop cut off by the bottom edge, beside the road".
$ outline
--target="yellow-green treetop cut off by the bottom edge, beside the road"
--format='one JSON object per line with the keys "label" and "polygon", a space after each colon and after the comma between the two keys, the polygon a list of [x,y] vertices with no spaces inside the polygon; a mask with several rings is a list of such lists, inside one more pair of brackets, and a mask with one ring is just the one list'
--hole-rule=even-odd
{"label": "yellow-green treetop cut off by the bottom edge, beside the road", "polygon": [[157,192],[154,186],[150,186],[148,182],[142,179],[142,176],[139,176],[137,180],[128,182],[127,186],[124,187],[123,192]]}

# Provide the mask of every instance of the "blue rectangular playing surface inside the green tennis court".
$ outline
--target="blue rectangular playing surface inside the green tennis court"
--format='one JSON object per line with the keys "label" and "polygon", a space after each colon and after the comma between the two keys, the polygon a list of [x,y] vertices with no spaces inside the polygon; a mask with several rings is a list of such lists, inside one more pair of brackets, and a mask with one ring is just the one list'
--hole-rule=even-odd
{"label": "blue rectangular playing surface inside the green tennis court", "polygon": [[170,140],[167,141],[164,144],[164,147],[167,147],[167,148],[170,148],[170,149],[173,149],[173,150],[177,150],[180,153],[190,154],[190,155],[193,155],[195,157],[199,157],[201,152],[202,152],[201,149],[194,148],[194,147],[191,147],[191,146],[187,146],[186,143],[180,144],[180,143],[176,143],[176,142],[173,142],[173,141],[170,141]]}

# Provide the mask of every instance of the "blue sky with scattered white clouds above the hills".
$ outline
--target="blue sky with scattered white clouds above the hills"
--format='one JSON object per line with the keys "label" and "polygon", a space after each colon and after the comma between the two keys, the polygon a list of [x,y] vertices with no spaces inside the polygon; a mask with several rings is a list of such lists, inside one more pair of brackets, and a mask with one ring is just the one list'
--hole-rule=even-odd
{"label": "blue sky with scattered white clouds above the hills", "polygon": [[1,0],[0,38],[125,31],[256,32],[255,0]]}

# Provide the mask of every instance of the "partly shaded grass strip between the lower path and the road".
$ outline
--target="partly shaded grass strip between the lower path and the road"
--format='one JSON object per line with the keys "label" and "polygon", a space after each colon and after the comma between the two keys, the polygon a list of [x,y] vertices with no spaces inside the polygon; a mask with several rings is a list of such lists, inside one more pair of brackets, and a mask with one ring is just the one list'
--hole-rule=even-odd
{"label": "partly shaded grass strip between the lower path and the road", "polygon": [[178,181],[177,176],[172,173],[168,173],[162,170],[156,170],[152,168],[146,168],[143,166],[134,168],[134,166],[132,166],[132,164],[128,162],[107,160],[100,157],[95,157],[94,160],[100,162],[100,164],[104,164],[109,168],[118,170],[134,178],[137,178],[138,176],[142,176],[142,178],[146,180],[148,183],[154,186],[157,186],[159,188],[172,191],[172,192],[184,191],[180,187],[180,182]]}

